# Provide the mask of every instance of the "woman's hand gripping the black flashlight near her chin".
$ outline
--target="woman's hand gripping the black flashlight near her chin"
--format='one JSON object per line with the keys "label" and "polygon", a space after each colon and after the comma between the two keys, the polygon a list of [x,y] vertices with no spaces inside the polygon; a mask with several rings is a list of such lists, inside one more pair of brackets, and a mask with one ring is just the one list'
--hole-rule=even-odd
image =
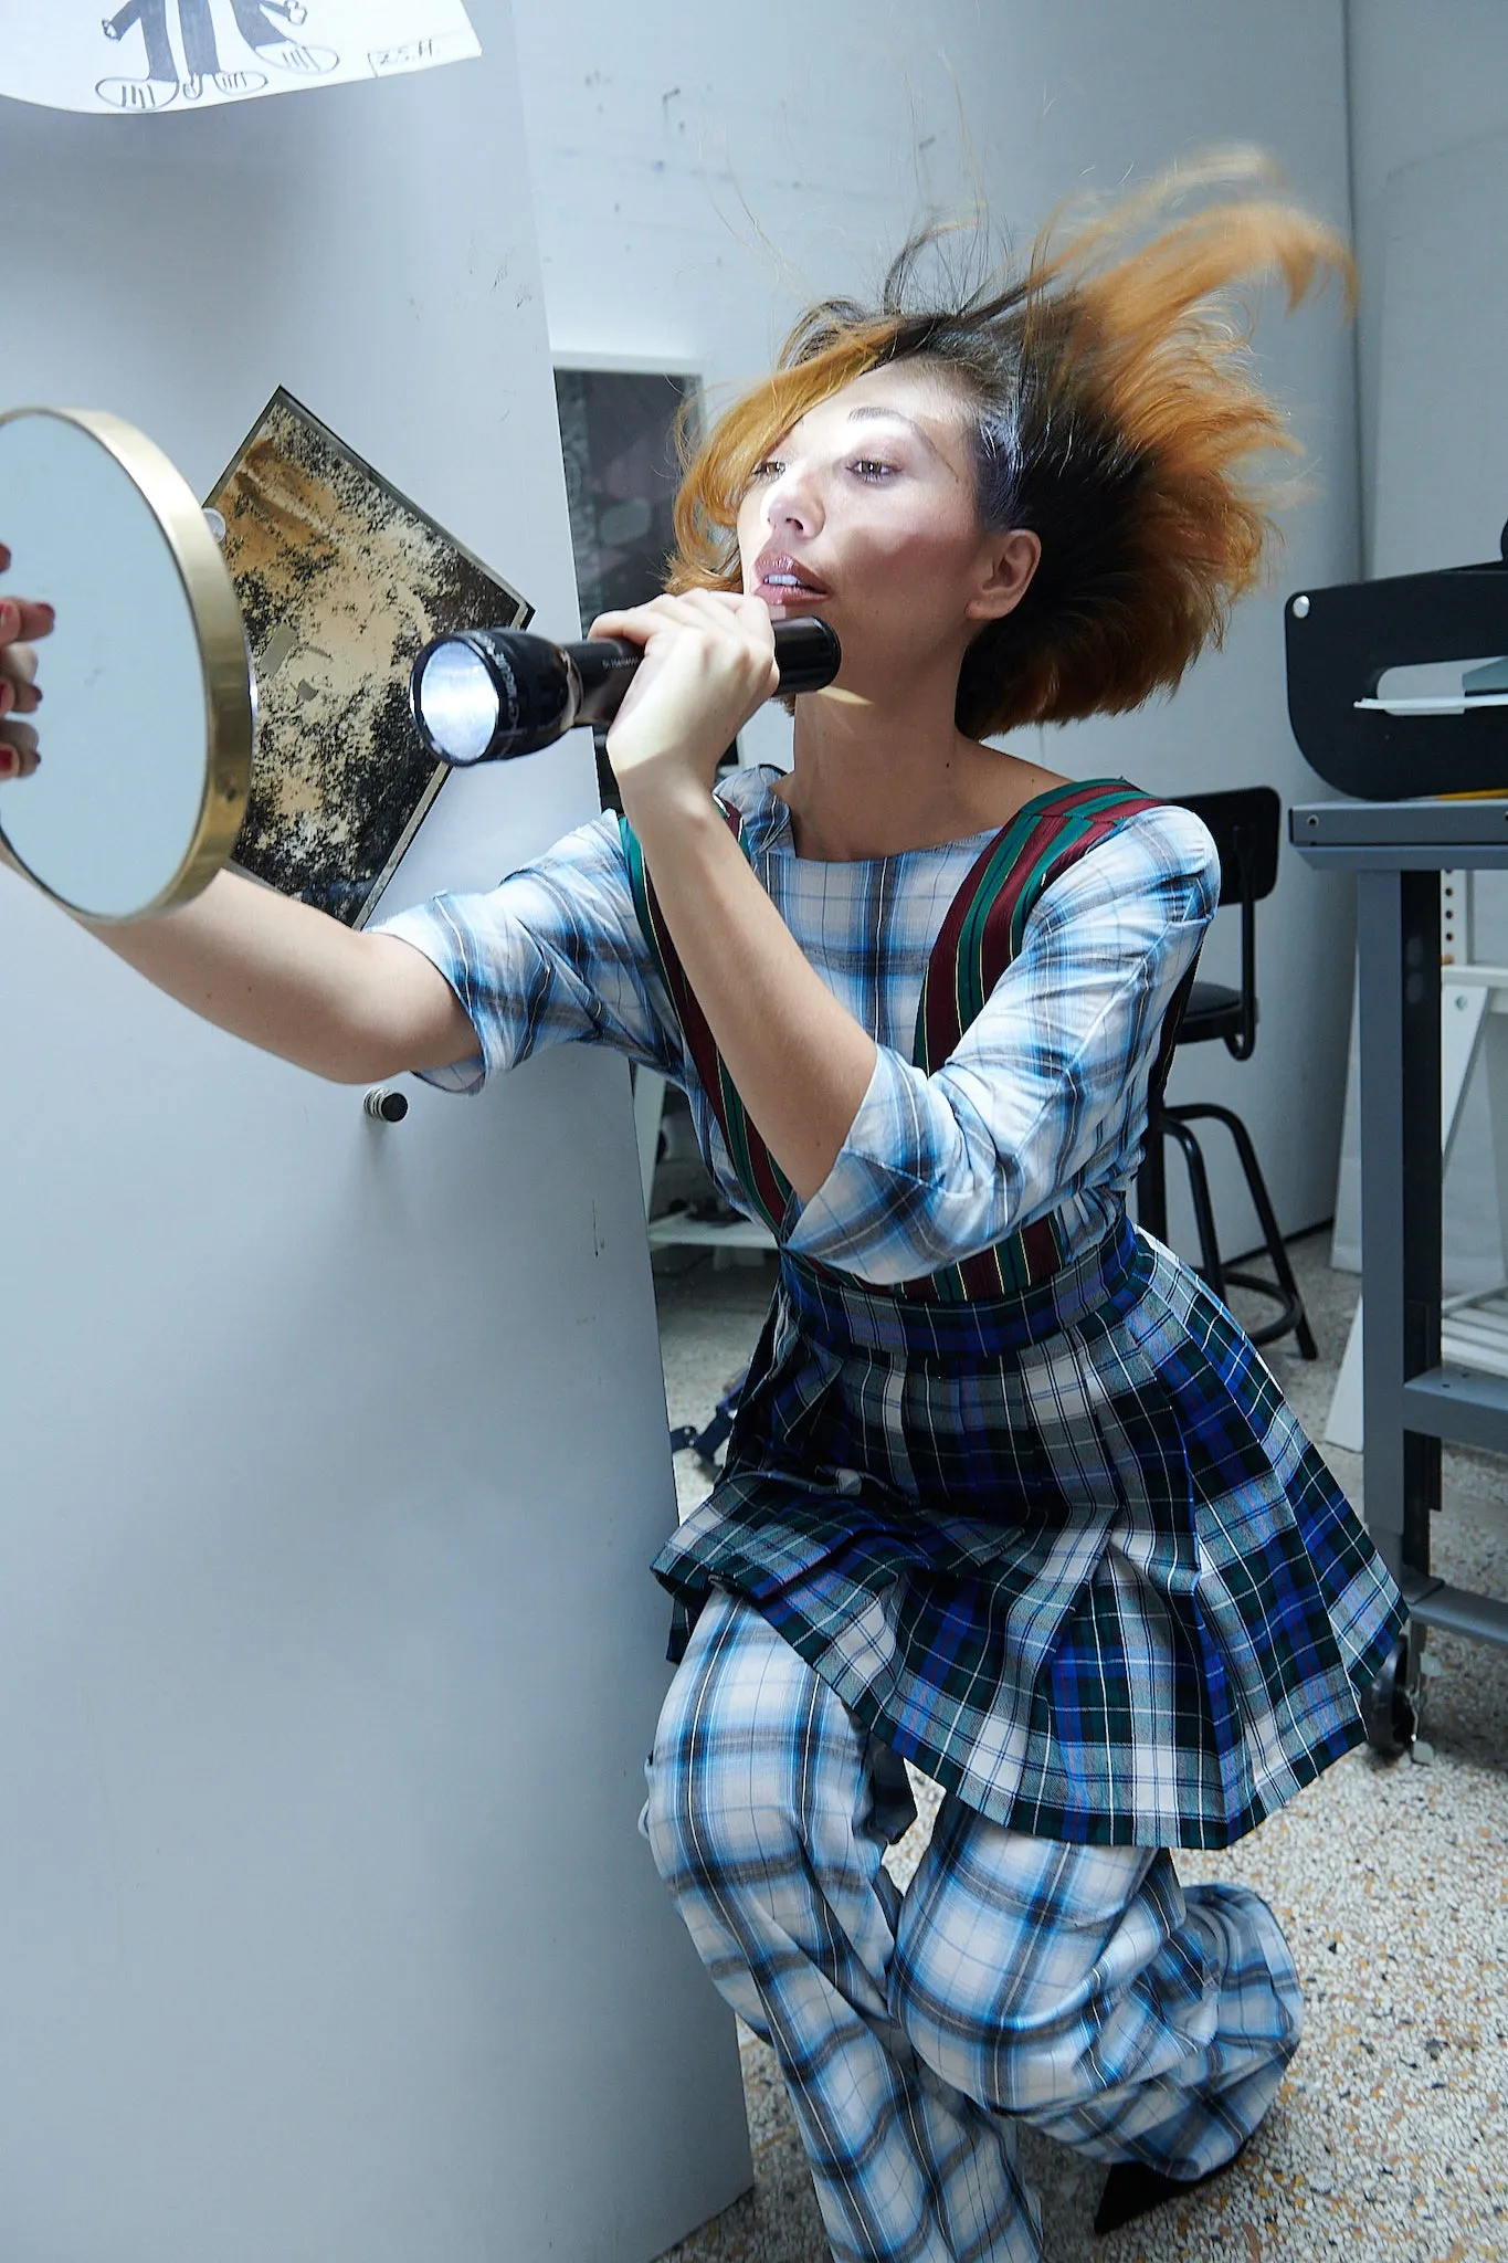
{"label": "woman's hand gripping the black flashlight near her chin", "polygon": [[629,817],[644,799],[705,801],[726,749],[780,683],[764,600],[692,588],[601,613],[590,634],[644,647],[608,731]]}

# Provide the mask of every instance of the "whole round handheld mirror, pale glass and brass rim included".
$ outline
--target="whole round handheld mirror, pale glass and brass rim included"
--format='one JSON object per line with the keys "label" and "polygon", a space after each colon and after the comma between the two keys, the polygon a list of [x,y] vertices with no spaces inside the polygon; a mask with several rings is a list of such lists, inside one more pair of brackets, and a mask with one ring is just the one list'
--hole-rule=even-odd
{"label": "whole round handheld mirror, pale glass and brass rim included", "polygon": [[36,645],[41,765],[0,783],[0,835],[95,919],[170,910],[228,855],[253,695],[235,591],[165,455],[118,419],[0,419],[5,593],[57,609]]}

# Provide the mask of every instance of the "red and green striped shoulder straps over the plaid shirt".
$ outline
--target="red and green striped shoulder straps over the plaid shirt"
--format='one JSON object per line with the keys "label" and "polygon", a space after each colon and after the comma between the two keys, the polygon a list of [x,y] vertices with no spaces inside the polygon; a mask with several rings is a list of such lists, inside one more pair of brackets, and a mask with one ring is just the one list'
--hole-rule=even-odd
{"label": "red and green striped shoulder straps over the plaid shirt", "polygon": [[[744,821],[719,801],[723,817],[742,844]],[[927,960],[922,996],[916,1012],[916,1066],[931,1075],[956,1050],[963,1032],[977,1018],[1002,973],[1017,955],[1031,910],[1051,883],[1099,846],[1117,824],[1151,810],[1155,803],[1121,778],[1092,778],[1087,785],[1054,788],[1015,812],[1008,826],[983,849],[963,887],[954,896]],[[633,907],[644,941],[669,991],[681,1021],[692,1066],[708,1095],[723,1143],[751,1204],[782,1238],[791,1213],[791,1181],[785,1177],[717,1050],[696,996],[685,980],[681,957],[644,869],[644,853],[629,824],[619,819],[624,860]],[[947,1265],[936,1274],[900,1283],[893,1294],[938,1303],[970,1303],[979,1297],[1002,1297],[1045,1281],[1063,1263],[1063,1245],[1051,1217],[1040,1217],[1020,1233],[1006,1236],[993,1249]]]}

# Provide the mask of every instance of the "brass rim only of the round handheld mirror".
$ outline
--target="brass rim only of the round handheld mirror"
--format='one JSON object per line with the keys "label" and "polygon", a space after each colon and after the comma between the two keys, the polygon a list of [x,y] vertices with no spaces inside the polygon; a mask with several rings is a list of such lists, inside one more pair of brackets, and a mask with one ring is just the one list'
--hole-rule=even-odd
{"label": "brass rim only of the round handheld mirror", "polygon": [[[7,840],[2,824],[0,846],[43,894],[90,926],[115,928],[133,919],[156,919],[190,903],[210,885],[231,855],[246,812],[255,749],[255,679],[235,584],[199,498],[176,464],[145,432],[138,432],[122,416],[111,416],[109,410],[18,407],[0,412],[0,425],[16,423],[20,416],[54,416],[59,423],[88,432],[120,464],[156,518],[199,638],[206,758],[199,817],[183,860],[151,903],[131,912],[95,912],[47,887]],[[27,591],[27,595],[45,593]],[[151,654],[142,654],[142,668],[149,665]]]}

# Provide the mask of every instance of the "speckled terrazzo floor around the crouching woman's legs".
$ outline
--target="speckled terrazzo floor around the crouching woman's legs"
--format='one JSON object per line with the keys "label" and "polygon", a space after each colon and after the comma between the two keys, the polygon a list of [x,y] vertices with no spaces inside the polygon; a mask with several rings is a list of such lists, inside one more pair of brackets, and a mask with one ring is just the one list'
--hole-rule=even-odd
{"label": "speckled terrazzo floor around the crouching woman's legs", "polygon": [[[1293,1245],[1320,1360],[1271,1358],[1311,1437],[1345,1342],[1357,1279],[1327,1238]],[[671,1423],[705,1421],[746,1360],[771,1265],[660,1260]],[[1325,1448],[1361,1503],[1361,1460]],[[708,1489],[676,1457],[683,1509]],[[1447,1455],[1433,1566],[1508,1595],[1508,1466]],[[1228,2179],[1097,2240],[1101,2170],[1026,2129],[1045,2263],[1508,2263],[1508,1652],[1431,1636],[1433,1765],[1357,1752],[1223,1856],[1185,1878],[1243,1878],[1273,1903],[1307,1991],[1305,2043]],[[893,1849],[920,1858],[934,1799]],[[755,2186],[665,2263],[827,2263],[816,2202],[773,2055],[744,2034]]]}

